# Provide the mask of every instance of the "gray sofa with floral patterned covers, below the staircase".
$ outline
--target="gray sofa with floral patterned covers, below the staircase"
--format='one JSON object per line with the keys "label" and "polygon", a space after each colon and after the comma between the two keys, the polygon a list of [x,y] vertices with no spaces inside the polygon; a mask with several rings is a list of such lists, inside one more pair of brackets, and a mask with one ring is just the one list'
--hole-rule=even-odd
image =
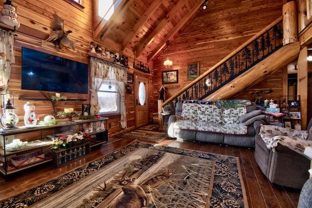
{"label": "gray sofa with floral patterned covers, below the staircase", "polygon": [[168,120],[168,136],[197,142],[253,147],[265,115],[249,100],[178,102]]}

